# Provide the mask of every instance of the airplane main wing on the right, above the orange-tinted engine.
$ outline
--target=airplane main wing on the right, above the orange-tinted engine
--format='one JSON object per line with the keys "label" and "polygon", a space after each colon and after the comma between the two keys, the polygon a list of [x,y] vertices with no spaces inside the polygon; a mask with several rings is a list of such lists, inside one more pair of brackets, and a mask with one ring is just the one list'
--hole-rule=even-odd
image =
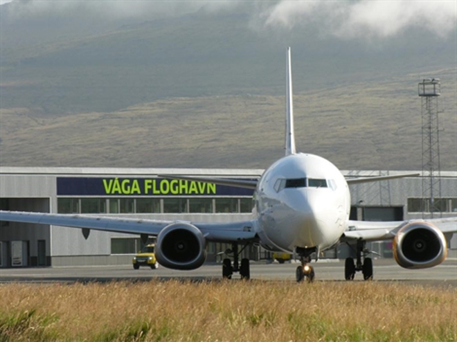
{"label": "airplane main wing on the right, above the orange-tinted engine", "polygon": [[431,224],[445,234],[457,233],[457,217],[445,219],[412,219],[409,221],[370,222],[352,221],[348,223],[348,230],[341,237],[342,242],[353,239],[366,241],[393,240],[398,231],[407,224]]}

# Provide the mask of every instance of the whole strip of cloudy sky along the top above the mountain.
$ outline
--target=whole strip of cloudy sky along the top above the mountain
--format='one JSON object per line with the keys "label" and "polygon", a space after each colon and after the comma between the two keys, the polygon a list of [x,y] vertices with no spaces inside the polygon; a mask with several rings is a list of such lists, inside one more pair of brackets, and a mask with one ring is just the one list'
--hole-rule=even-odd
{"label": "whole strip of cloudy sky along the top above the mountain", "polygon": [[[0,0],[7,3],[10,0]],[[19,1],[18,1],[19,2]],[[24,4],[28,10],[24,10]],[[118,18],[163,18],[189,12],[217,15],[230,10],[247,9],[256,30],[291,30],[319,26],[321,35],[343,39],[391,37],[408,28],[425,28],[439,36],[456,32],[456,0],[29,0],[17,6],[17,15],[89,10],[91,14]]]}

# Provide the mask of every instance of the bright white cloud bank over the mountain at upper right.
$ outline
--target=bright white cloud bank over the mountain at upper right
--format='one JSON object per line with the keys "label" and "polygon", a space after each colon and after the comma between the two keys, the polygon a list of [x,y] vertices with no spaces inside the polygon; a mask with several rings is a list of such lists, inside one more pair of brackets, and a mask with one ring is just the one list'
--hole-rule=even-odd
{"label": "bright white cloud bank over the mountain at upper right", "polygon": [[426,28],[436,35],[455,32],[455,0],[280,1],[260,13],[264,27],[318,24],[337,37],[391,37],[407,28]]}

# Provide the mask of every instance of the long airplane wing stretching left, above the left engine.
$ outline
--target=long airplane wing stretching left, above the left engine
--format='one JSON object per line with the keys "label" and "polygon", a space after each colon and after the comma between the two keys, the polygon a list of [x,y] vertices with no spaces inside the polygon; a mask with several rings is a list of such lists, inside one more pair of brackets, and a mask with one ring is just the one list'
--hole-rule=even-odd
{"label": "long airplane wing stretching left, above the left engine", "polygon": [[[70,228],[151,236],[159,235],[163,228],[170,226],[170,224],[179,224],[181,222],[91,215],[20,213],[2,210],[0,210],[0,221],[50,224]],[[195,223],[192,226],[197,227],[208,241],[235,242],[253,240],[256,237],[255,224],[255,221],[245,221],[220,224]]]}

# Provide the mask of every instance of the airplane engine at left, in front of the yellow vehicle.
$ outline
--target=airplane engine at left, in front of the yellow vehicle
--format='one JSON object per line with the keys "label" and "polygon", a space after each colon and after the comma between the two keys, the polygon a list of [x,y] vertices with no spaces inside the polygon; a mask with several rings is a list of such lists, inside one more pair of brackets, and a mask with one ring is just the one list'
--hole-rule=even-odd
{"label": "airplane engine at left, in front of the yellow vehicle", "polygon": [[192,224],[177,222],[162,229],[156,241],[156,260],[169,269],[197,269],[206,260],[206,242]]}

